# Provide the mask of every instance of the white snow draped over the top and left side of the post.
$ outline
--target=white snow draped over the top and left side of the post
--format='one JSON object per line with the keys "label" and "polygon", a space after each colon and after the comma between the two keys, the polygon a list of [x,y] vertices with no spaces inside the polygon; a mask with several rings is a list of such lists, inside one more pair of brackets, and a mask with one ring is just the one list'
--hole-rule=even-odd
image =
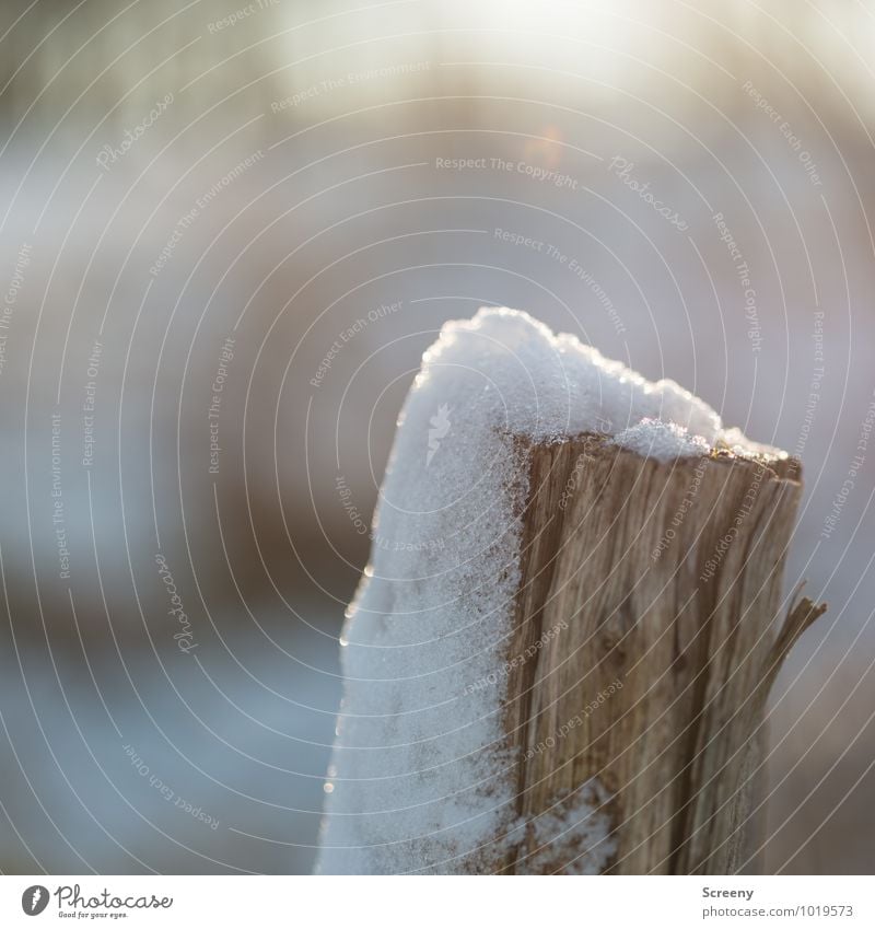
{"label": "white snow draped over the top and left side of the post", "polygon": [[[661,461],[718,448],[781,454],[725,431],[673,381],[650,383],[526,313],[447,323],[399,417],[372,562],[347,613],[322,872],[464,872],[475,861],[485,871],[526,834],[501,724],[506,675],[495,673],[527,491],[515,437],[582,432]],[[528,824],[548,836],[542,856],[562,834],[558,843],[583,835],[609,853],[604,814],[590,817],[596,796]],[[582,861],[597,869],[598,853]]]}

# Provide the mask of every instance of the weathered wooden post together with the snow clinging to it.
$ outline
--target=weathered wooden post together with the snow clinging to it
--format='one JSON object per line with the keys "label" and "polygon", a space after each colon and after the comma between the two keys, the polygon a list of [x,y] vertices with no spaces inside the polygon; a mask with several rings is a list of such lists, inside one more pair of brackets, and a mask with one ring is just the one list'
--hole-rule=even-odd
{"label": "weathered wooden post together with the snow clinging to it", "polygon": [[[320,870],[732,873],[800,466],[525,314],[425,353],[345,632]],[[784,618],[786,616],[786,618]]]}

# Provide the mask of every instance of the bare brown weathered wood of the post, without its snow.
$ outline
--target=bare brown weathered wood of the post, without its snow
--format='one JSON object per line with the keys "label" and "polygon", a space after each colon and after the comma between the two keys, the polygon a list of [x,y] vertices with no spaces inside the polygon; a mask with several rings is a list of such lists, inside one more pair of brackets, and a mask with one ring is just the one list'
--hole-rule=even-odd
{"label": "bare brown weathered wood of the post, without its snow", "polygon": [[[826,608],[782,606],[798,462],[663,463],[591,434],[521,453],[505,731],[527,825],[504,872],[735,872],[766,698]],[[581,800],[599,828],[569,828]]]}

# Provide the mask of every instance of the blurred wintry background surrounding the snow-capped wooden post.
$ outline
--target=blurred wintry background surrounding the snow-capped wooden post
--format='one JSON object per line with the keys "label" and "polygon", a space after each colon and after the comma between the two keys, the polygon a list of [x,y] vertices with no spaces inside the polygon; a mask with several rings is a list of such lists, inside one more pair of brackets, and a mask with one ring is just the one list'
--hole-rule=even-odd
{"label": "blurred wintry background surrounding the snow-capped wooden post", "polygon": [[311,870],[395,420],[483,304],[803,458],[762,867],[871,871],[873,62],[870,0],[4,0],[0,871]]}

